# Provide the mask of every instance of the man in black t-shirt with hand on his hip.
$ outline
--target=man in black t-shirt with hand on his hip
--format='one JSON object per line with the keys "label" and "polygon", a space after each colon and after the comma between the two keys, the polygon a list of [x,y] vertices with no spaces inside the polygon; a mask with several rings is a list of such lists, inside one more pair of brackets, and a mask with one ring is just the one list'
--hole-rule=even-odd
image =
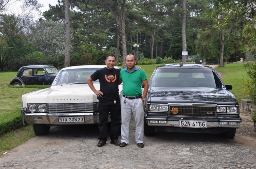
{"label": "man in black t-shirt with hand on his hip", "polygon": [[[99,131],[100,141],[98,147],[106,144],[107,140],[107,122],[110,113],[111,118],[111,144],[119,146],[118,136],[121,127],[121,105],[118,91],[118,79],[120,69],[114,68],[116,64],[116,57],[108,55],[105,60],[106,68],[97,70],[88,79],[87,83],[90,89],[97,95],[99,100],[98,113],[99,113]],[[99,79],[100,90],[96,90],[93,81]]]}

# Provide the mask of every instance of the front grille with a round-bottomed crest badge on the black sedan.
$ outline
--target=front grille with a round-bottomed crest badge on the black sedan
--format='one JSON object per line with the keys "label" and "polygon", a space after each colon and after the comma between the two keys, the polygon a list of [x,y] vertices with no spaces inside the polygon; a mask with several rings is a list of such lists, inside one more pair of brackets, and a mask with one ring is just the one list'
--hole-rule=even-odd
{"label": "front grille with a round-bottomed crest badge on the black sedan", "polygon": [[173,106],[169,107],[169,116],[215,117],[215,106]]}

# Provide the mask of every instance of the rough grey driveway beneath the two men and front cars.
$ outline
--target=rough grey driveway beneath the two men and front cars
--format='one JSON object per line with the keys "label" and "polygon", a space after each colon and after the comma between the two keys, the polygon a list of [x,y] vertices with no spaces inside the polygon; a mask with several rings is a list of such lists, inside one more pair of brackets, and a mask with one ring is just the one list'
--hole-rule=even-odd
{"label": "rough grey driveway beneath the two men and front cars", "polygon": [[[135,123],[130,124],[130,143],[97,147],[97,125],[55,126],[48,135],[31,138],[0,156],[0,168],[12,169],[161,169],[161,168],[256,168],[256,133],[252,114],[241,113],[243,122],[234,139],[218,134],[167,133],[144,136],[144,148],[135,143]],[[133,118],[132,118],[133,119]],[[110,135],[110,130],[108,130]]]}

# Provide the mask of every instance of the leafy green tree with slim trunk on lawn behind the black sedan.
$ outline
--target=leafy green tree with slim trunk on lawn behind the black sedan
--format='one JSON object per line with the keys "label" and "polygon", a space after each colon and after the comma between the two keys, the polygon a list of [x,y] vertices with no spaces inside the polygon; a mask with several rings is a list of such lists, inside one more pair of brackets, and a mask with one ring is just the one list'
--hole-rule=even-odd
{"label": "leafy green tree with slim trunk on lawn behind the black sedan", "polygon": [[[215,58],[220,62],[245,53],[242,29],[247,22],[252,2],[239,0],[214,0],[205,11],[209,26],[200,29],[197,36],[197,52],[202,58]],[[250,3],[249,3],[250,2]],[[249,6],[248,6],[249,5]],[[224,50],[222,46],[224,45]],[[223,66],[223,65],[220,65]]]}

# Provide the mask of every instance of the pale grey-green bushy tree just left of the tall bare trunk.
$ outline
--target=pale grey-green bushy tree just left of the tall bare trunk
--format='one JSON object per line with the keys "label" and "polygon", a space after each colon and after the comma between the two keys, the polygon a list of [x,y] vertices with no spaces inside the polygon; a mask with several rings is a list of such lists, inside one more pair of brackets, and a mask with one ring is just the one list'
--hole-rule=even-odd
{"label": "pale grey-green bushy tree just left of the tall bare trunk", "polygon": [[57,58],[65,54],[65,29],[61,23],[41,20],[35,23],[30,37],[34,49],[45,56]]}

